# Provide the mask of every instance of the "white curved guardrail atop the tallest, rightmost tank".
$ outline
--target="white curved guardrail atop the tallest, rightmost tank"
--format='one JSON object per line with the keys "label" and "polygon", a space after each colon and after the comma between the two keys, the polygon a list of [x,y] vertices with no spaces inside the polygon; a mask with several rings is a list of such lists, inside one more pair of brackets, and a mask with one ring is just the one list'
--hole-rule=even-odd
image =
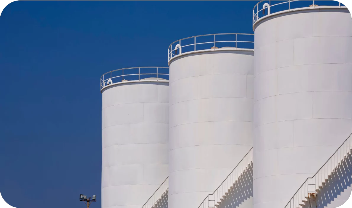
{"label": "white curved guardrail atop the tallest, rightmost tank", "polygon": [[[277,3],[279,2],[279,3]],[[264,0],[258,2],[253,8],[253,25],[262,17],[272,15],[278,12],[285,12],[285,11],[294,11],[294,10],[299,10],[302,8],[316,8],[316,7],[321,7],[321,6],[329,6],[329,7],[345,7],[344,5],[341,5],[341,2],[335,1],[334,4],[336,6],[332,5],[332,2],[334,1],[315,1],[315,0],[288,0],[288,1],[270,1],[270,0]],[[319,5],[316,5],[318,4]],[[281,5],[281,6],[279,6]],[[273,12],[273,10],[275,10]],[[264,12],[263,12],[264,11]]]}

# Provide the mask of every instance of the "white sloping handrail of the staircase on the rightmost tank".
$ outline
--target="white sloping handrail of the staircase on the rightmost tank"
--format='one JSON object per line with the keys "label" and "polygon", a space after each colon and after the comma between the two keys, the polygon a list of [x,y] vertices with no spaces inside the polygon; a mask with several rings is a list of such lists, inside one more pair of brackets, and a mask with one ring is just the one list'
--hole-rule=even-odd
{"label": "white sloping handrail of the staircase on the rightmost tank", "polygon": [[[300,200],[302,201],[304,197],[308,196],[309,193],[315,193],[315,188],[316,188],[316,185],[317,185],[317,182],[318,182],[318,185],[320,184],[319,181],[321,181],[322,179],[325,180],[326,179],[326,174],[329,174],[331,173],[333,170],[332,169],[328,169],[328,162],[330,161],[332,164],[331,165],[331,168],[335,168],[338,163],[344,159],[345,155],[348,154],[348,152],[351,150],[351,147],[352,147],[352,140],[351,140],[351,135],[352,133],[347,137],[347,139],[339,146],[339,148],[332,154],[331,157],[329,157],[329,159],[321,166],[321,168],[312,176],[312,177],[309,177],[306,179],[306,181],[304,181],[304,183],[301,185],[300,188],[298,188],[298,190],[296,191],[296,193],[293,195],[293,197],[290,199],[290,201],[286,204],[285,208],[296,208],[298,207],[297,204],[299,205],[300,203]],[[350,141],[351,140],[351,141]],[[345,145],[346,144],[346,145]],[[344,146],[345,145],[345,146]],[[339,152],[339,150],[342,150],[342,148],[346,148],[346,152],[341,153],[341,151]],[[340,157],[338,157],[338,154],[337,153],[340,153]],[[342,155],[342,158],[341,158],[341,155]],[[332,161],[331,159],[333,157],[336,157],[334,158],[335,161]],[[334,166],[333,166],[334,165]],[[323,168],[326,168],[328,170],[325,170],[326,172],[322,172],[321,174],[325,174],[326,176],[320,176],[320,172],[323,171],[324,169]],[[316,178],[316,176],[318,176],[318,178]],[[314,184],[309,184],[309,179],[313,179],[313,181],[315,182]],[[320,180],[319,180],[320,179]],[[317,181],[318,180],[318,181]],[[324,181],[321,181],[321,183],[324,182]],[[310,185],[314,185],[314,189],[309,189],[309,186]],[[304,193],[303,193],[303,187],[304,187]],[[301,194],[300,194],[300,191],[301,191]],[[298,196],[297,196],[298,194]],[[300,194],[300,195],[299,195]],[[306,195],[307,194],[307,195]],[[295,197],[296,197],[296,200],[295,200]],[[298,198],[297,198],[298,197]],[[298,202],[298,203],[297,203]],[[293,203],[293,205],[291,206],[291,203]],[[290,206],[289,206],[290,205]]]}

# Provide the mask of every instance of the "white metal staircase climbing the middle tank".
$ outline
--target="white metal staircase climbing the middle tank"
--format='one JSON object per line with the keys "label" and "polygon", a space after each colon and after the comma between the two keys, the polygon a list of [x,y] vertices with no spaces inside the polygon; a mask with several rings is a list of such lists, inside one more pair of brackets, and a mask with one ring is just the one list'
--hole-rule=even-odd
{"label": "white metal staircase climbing the middle tank", "polygon": [[[223,208],[231,200],[236,206],[250,197],[247,191],[253,183],[253,147],[241,159],[230,175],[209,194],[198,208]],[[252,190],[252,189],[250,189]],[[235,206],[234,206],[235,207]]]}

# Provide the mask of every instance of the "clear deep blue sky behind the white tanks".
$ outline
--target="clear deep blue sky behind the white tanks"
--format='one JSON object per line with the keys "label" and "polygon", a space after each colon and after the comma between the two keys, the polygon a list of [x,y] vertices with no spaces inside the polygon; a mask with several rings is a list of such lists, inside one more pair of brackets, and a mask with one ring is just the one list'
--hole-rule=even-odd
{"label": "clear deep blue sky behind the white tanks", "polygon": [[[19,208],[101,206],[108,71],[167,67],[175,40],[253,33],[258,1],[15,1],[0,16],[0,191]],[[62,200],[62,201],[61,201]]]}

